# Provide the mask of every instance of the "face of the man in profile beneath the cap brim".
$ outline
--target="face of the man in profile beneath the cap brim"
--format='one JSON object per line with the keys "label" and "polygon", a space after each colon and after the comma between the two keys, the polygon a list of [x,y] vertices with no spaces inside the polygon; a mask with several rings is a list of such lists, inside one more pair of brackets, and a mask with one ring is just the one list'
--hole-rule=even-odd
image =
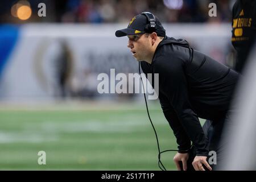
{"label": "face of the man in profile beneath the cap brim", "polygon": [[130,48],[133,56],[138,61],[147,60],[150,55],[150,36],[146,36],[146,34],[127,36],[129,39],[127,47]]}

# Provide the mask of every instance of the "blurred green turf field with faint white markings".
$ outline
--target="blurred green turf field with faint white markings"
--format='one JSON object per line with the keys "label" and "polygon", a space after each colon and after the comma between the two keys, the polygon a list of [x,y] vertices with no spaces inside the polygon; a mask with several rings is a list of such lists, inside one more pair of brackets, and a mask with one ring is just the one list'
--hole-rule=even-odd
{"label": "blurred green turf field with faint white markings", "polygon": [[[150,105],[161,150],[176,139],[160,105]],[[0,107],[0,170],[160,170],[144,105]],[[38,152],[46,152],[46,165]],[[174,170],[175,152],[162,155]]]}

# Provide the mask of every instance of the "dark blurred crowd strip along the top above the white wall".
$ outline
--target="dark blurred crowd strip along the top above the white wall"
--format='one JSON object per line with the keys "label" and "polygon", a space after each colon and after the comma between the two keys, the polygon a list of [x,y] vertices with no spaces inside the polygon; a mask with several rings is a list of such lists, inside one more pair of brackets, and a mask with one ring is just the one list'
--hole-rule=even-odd
{"label": "dark blurred crowd strip along the top above the white wall", "polygon": [[[10,16],[11,6],[19,1],[1,1],[1,23],[22,23]],[[26,1],[23,1],[26,2]],[[135,14],[150,11],[162,22],[229,22],[233,0],[33,0],[32,12],[38,11],[39,3],[46,3],[47,16],[36,14],[27,22],[80,22],[80,23],[120,23],[127,22]],[[218,18],[209,18],[208,5],[216,3]]]}

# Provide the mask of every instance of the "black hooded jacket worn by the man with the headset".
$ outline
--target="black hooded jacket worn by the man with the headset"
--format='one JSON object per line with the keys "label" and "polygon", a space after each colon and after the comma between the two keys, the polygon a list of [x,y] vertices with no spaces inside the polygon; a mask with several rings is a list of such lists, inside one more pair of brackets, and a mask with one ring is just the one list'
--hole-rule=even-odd
{"label": "black hooded jacket worn by the man with the headset", "polygon": [[142,61],[141,66],[145,74],[159,73],[160,104],[179,152],[187,152],[192,141],[197,155],[208,156],[198,117],[212,121],[225,117],[239,74],[192,49],[187,41],[167,36],[156,48],[152,64]]}

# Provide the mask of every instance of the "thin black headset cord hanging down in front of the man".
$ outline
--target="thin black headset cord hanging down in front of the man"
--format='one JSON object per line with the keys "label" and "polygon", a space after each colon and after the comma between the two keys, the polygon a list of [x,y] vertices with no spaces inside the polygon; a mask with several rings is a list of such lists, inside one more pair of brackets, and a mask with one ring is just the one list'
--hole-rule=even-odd
{"label": "thin black headset cord hanging down in front of the man", "polygon": [[[139,62],[139,75],[141,76],[141,62]],[[142,80],[142,76],[141,76],[141,82],[142,82],[142,86],[143,86],[143,94],[144,94],[144,100],[145,100],[145,103],[146,103],[146,108],[147,108],[147,115],[148,115],[148,118],[150,120],[150,123],[153,127],[153,130],[155,132],[155,138],[156,138],[156,143],[158,145],[158,166],[160,169],[162,169],[162,171],[167,171],[166,168],[164,167],[162,161],[161,161],[161,154],[164,153],[164,152],[168,152],[168,151],[178,151],[178,150],[165,150],[165,151],[160,151],[160,146],[159,146],[159,140],[158,140],[158,134],[156,133],[156,130],[155,130],[155,126],[153,125],[152,121],[151,121],[151,118],[150,118],[150,114],[148,112],[148,107],[147,107],[147,99],[146,99],[146,94],[145,94],[145,88],[144,88],[144,84],[143,84],[143,80]],[[161,167],[162,166],[162,167]]]}

